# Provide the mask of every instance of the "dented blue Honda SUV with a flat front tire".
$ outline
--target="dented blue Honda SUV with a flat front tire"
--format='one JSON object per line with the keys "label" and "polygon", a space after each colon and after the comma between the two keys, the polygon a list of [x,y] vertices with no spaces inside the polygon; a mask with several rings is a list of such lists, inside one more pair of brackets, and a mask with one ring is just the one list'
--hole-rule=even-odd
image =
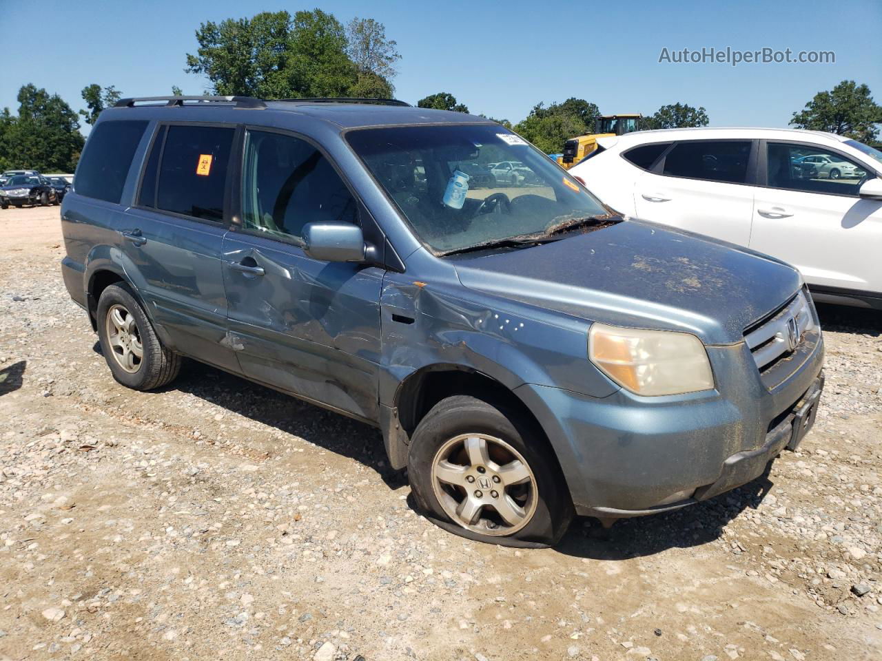
{"label": "dented blue Honda SUV with a flat front tire", "polygon": [[[497,181],[503,161],[525,176]],[[623,219],[481,117],[120,100],[62,223],[116,381],[159,388],[188,356],[375,425],[416,507],[468,538],[704,501],[817,412],[796,269]]]}

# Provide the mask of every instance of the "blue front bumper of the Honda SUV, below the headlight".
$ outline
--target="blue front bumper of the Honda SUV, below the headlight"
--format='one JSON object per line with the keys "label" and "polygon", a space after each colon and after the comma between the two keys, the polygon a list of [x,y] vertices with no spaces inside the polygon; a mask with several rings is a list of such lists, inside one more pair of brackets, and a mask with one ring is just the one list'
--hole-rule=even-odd
{"label": "blue front bumper of the Honda SUV, below the headlight", "polygon": [[[802,412],[811,427],[823,388],[817,332],[798,366],[769,388],[740,343],[707,347],[717,390],[594,398],[526,384],[515,392],[554,447],[573,504],[585,516],[641,516],[706,500],[759,477],[794,440]],[[804,405],[815,403],[808,411]]]}

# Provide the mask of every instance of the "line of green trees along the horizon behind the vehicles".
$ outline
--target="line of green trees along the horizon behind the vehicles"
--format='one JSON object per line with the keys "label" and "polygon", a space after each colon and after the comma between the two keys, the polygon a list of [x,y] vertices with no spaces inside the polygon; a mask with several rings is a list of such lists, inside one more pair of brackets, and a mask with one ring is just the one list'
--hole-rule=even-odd
{"label": "line of green trees along the horizon behind the vehicles", "polygon": [[[355,18],[345,26],[333,14],[315,9],[264,11],[250,19],[206,21],[196,30],[198,48],[185,55],[184,71],[209,83],[205,94],[255,96],[262,99],[303,97],[392,98],[393,78],[401,59],[385,26],[374,19]],[[173,95],[183,95],[172,87]],[[114,85],[86,85],[86,108],[74,110],[57,94],[34,85],[19,90],[19,111],[0,112],[0,170],[33,167],[44,172],[72,172],[84,138],[80,117],[93,124],[101,111],[122,93]],[[452,93],[430,94],[420,108],[467,113]],[[545,105],[537,103],[518,123],[493,119],[514,130],[544,152],[559,152],[570,137],[594,132],[601,110],[576,97]],[[486,116],[486,115],[481,115]],[[645,116],[640,129],[706,126],[706,109],[684,103],[662,106]],[[818,92],[793,113],[796,128],[825,130],[874,144],[882,123],[882,106],[867,85],[843,80],[832,91]]]}

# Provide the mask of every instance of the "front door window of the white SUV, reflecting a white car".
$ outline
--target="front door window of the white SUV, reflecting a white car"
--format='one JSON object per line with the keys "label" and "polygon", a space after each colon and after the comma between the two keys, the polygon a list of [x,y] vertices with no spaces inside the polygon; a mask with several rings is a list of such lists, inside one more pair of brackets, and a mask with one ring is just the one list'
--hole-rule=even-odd
{"label": "front door window of the white SUV, reflecting a white car", "polygon": [[766,182],[775,189],[826,195],[857,195],[867,169],[836,152],[814,145],[766,144]]}

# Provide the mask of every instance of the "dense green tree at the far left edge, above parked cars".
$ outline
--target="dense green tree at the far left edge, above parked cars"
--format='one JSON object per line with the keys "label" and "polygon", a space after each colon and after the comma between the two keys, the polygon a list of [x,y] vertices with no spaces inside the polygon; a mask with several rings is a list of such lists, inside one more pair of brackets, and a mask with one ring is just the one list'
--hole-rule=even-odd
{"label": "dense green tree at the far left edge, above parked cars", "polygon": [[0,162],[4,167],[73,172],[85,139],[78,115],[57,94],[34,85],[19,89],[19,115],[0,114]]}

